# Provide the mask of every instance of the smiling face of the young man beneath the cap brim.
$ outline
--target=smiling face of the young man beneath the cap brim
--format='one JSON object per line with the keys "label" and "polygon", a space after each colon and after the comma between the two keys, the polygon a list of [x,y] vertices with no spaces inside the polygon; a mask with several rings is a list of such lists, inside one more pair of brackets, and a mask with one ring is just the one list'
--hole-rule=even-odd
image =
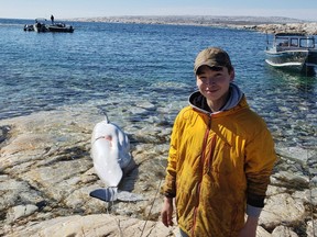
{"label": "smiling face of the young man beneath the cap brim", "polygon": [[234,70],[230,72],[227,67],[199,67],[197,87],[207,101],[221,102],[227,100],[229,84],[234,79]]}

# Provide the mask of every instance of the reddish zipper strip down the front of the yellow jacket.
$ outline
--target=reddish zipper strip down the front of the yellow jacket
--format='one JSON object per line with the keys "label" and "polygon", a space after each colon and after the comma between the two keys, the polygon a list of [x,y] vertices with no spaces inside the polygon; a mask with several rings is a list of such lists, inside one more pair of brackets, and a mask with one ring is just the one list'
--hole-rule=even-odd
{"label": "reddish zipper strip down the front of the yellow jacket", "polygon": [[206,129],[205,136],[204,136],[204,140],[203,140],[203,149],[201,149],[201,159],[200,159],[200,163],[201,163],[201,178],[200,178],[200,182],[198,184],[197,191],[196,191],[196,195],[197,195],[197,206],[194,210],[194,224],[193,224],[193,228],[192,228],[192,237],[195,237],[195,228],[196,228],[196,218],[197,218],[197,212],[198,212],[198,206],[199,206],[199,199],[200,199],[200,187],[201,187],[201,181],[203,181],[203,176],[204,176],[204,163],[205,163],[205,151],[206,151],[206,147],[207,147],[207,140],[208,140],[208,135],[210,132],[210,127],[211,127],[211,115],[209,117],[209,122],[208,122],[208,127]]}

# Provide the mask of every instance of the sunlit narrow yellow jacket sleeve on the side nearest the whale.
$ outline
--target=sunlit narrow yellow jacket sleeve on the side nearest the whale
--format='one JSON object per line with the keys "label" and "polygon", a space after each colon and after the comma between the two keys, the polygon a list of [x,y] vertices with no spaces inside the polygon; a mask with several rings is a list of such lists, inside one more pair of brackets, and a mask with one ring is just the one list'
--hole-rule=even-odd
{"label": "sunlit narrow yellow jacket sleeve on the side nearest the whale", "polygon": [[162,189],[163,195],[167,198],[176,196],[176,169],[177,169],[177,144],[178,144],[178,123],[179,123],[179,114],[176,117],[172,131],[171,144],[170,144],[170,153],[167,158],[167,167],[166,167],[166,176],[165,183]]}

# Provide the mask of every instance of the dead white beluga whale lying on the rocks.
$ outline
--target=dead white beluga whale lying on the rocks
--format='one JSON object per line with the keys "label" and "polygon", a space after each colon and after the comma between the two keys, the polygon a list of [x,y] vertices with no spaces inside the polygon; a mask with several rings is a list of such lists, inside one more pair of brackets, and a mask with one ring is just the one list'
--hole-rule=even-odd
{"label": "dead white beluga whale lying on the rocks", "polygon": [[110,201],[142,201],[142,195],[119,190],[118,185],[125,173],[136,165],[130,153],[128,135],[116,124],[110,123],[107,114],[92,129],[90,155],[94,169],[105,188],[94,190],[90,196]]}

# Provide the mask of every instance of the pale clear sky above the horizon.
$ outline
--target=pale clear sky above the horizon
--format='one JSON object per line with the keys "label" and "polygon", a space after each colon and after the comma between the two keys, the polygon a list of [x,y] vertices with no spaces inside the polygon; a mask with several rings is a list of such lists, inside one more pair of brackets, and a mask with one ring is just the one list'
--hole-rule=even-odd
{"label": "pale clear sky above the horizon", "polygon": [[287,16],[317,22],[317,0],[0,0],[2,19],[122,15]]}

